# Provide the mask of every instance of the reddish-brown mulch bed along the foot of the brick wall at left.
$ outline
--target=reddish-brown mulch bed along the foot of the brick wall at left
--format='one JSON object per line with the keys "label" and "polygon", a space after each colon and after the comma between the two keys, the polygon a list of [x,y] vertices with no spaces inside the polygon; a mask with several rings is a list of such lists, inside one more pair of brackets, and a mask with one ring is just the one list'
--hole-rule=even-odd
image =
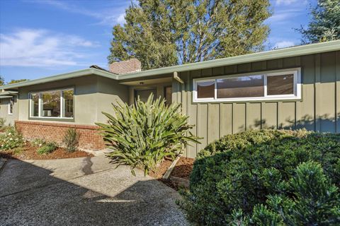
{"label": "reddish-brown mulch bed along the foot of the brick wall at left", "polygon": [[[21,150],[20,152],[16,150]],[[1,150],[0,157],[18,159],[18,160],[55,160],[72,157],[93,157],[94,155],[86,153],[81,150],[76,150],[73,153],[67,152],[64,148],[57,148],[57,150],[47,155],[39,155],[37,153],[38,147],[34,147],[28,143],[23,148],[16,150]]]}

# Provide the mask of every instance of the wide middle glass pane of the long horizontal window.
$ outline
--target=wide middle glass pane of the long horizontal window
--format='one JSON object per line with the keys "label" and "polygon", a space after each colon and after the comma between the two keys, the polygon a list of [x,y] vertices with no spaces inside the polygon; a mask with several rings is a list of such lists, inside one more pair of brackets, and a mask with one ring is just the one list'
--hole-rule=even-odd
{"label": "wide middle glass pane of the long horizontal window", "polygon": [[217,98],[263,97],[263,76],[217,79]]}

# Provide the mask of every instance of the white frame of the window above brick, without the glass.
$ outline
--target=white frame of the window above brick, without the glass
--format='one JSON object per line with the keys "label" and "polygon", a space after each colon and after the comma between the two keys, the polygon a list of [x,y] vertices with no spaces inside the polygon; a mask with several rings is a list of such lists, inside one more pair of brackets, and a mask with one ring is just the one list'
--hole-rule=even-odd
{"label": "white frame of the window above brick, without the glass", "polygon": [[[74,92],[74,88],[64,88],[64,89],[57,89],[57,90],[43,90],[43,91],[39,91],[39,92],[33,92],[30,93],[29,97],[30,97],[30,107],[29,107],[29,111],[30,111],[30,118],[33,119],[74,119],[74,117],[64,117],[64,96],[63,96],[63,92],[65,90],[73,90]],[[45,92],[53,92],[53,91],[60,91],[60,117],[44,117],[42,116],[42,93]],[[34,94],[38,94],[39,99],[38,99],[38,115],[39,116],[33,116],[33,100],[32,100],[32,95]]]}

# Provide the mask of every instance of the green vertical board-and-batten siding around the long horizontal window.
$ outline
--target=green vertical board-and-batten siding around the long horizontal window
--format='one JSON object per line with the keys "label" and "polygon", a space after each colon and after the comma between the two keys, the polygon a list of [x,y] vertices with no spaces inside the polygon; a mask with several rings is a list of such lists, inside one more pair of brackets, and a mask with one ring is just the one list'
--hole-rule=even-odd
{"label": "green vertical board-and-batten siding around the long horizontal window", "polygon": [[[301,67],[302,100],[193,103],[193,78]],[[200,144],[186,148],[196,157],[208,143],[247,129],[300,129],[340,133],[340,51],[273,59],[180,73],[185,84],[173,82],[173,100],[195,124]]]}

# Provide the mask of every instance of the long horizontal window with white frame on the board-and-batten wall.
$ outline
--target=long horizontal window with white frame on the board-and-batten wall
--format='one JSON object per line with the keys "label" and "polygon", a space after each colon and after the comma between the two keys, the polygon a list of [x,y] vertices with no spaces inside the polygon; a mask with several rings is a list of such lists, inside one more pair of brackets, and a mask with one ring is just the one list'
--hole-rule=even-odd
{"label": "long horizontal window with white frame on the board-and-batten wall", "polygon": [[193,80],[193,102],[296,100],[300,98],[300,68]]}

